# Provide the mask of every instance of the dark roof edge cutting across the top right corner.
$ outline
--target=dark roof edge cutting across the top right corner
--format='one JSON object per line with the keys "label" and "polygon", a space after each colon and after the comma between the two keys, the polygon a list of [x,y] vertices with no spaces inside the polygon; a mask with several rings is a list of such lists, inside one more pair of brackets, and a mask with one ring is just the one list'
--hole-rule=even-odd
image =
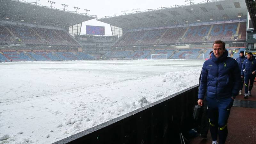
{"label": "dark roof edge cutting across the top right corner", "polygon": [[245,0],[249,15],[252,19],[253,28],[256,29],[256,3],[255,0]]}

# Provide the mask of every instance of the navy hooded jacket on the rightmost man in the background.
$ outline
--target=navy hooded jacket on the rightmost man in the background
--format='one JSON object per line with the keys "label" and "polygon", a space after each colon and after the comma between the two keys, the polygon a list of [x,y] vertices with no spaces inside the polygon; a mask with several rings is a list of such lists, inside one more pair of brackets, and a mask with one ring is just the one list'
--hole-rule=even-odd
{"label": "navy hooded jacket on the rightmost man in the background", "polygon": [[[244,69],[245,69],[245,72],[243,72]],[[256,59],[254,56],[252,56],[251,59],[244,60],[244,63],[241,69],[241,75],[248,76],[252,74],[253,71],[256,72]]]}

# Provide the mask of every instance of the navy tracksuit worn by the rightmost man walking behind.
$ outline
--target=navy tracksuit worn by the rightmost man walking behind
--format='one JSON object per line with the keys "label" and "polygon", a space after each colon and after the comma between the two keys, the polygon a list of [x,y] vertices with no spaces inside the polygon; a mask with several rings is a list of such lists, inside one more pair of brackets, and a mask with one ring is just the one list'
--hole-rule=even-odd
{"label": "navy tracksuit worn by the rightmost man walking behind", "polygon": [[[245,72],[243,70],[245,69]],[[250,81],[249,91],[252,90],[253,82],[255,79],[255,74],[252,74],[252,72],[256,72],[256,59],[254,56],[252,56],[251,59],[246,59],[243,63],[242,69],[241,69],[241,75],[244,76],[244,92],[245,94],[248,93],[248,84]]]}

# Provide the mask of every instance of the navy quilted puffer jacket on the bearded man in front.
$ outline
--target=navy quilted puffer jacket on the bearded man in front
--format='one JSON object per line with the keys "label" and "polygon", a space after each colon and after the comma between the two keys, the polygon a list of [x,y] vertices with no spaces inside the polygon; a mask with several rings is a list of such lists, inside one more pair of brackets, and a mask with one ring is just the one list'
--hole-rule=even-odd
{"label": "navy quilted puffer jacket on the bearded man in front", "polygon": [[203,64],[198,99],[204,99],[205,93],[214,99],[236,96],[241,82],[236,60],[228,57],[227,50],[219,58],[214,53],[211,56]]}

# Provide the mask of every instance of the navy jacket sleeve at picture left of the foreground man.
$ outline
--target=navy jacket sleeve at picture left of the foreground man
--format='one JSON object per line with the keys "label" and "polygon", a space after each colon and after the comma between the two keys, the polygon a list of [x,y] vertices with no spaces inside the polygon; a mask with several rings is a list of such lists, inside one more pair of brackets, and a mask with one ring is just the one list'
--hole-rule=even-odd
{"label": "navy jacket sleeve at picture left of the foreground man", "polygon": [[204,62],[201,73],[202,74],[201,74],[200,86],[199,86],[199,90],[198,90],[198,99],[204,99],[204,95],[205,95],[206,88],[207,88],[208,71],[206,70],[205,62]]}

